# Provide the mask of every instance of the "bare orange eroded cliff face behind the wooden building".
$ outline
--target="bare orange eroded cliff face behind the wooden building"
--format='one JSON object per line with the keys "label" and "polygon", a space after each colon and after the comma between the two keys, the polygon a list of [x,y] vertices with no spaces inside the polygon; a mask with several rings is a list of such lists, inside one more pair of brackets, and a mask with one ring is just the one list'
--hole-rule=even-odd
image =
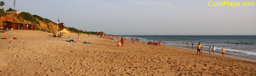
{"label": "bare orange eroded cliff face behind the wooden building", "polygon": [[[14,21],[14,22],[35,24],[37,26],[38,30],[45,31],[45,29],[47,28],[47,32],[56,32],[56,28],[57,28],[57,25],[55,25],[52,22],[45,23],[41,20],[37,20],[40,23],[40,25],[38,25],[37,23],[31,23],[30,21],[27,21],[27,20],[22,19],[21,17],[18,17],[18,14],[8,14],[6,16],[0,17],[0,26],[3,25],[2,22],[4,22],[4,21]],[[47,26],[47,25],[49,25],[49,26]]]}

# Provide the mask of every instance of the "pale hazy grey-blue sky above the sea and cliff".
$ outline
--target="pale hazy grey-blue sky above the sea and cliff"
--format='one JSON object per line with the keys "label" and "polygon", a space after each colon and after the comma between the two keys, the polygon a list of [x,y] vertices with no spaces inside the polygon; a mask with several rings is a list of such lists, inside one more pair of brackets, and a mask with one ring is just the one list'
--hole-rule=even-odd
{"label": "pale hazy grey-blue sky above the sea and cliff", "polygon": [[[14,8],[13,0],[0,1]],[[15,9],[56,23],[59,15],[66,27],[110,35],[256,35],[255,6],[214,7],[209,1],[16,0]]]}

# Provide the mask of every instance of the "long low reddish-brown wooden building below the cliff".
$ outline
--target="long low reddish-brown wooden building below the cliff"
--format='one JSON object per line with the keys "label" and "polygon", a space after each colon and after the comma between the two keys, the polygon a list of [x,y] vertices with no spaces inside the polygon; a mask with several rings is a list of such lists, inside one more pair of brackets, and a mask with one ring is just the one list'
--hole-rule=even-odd
{"label": "long low reddish-brown wooden building below the cliff", "polygon": [[20,30],[35,30],[36,25],[28,24],[28,23],[20,23],[20,22],[13,22],[13,21],[4,21],[3,28],[8,29],[20,29]]}

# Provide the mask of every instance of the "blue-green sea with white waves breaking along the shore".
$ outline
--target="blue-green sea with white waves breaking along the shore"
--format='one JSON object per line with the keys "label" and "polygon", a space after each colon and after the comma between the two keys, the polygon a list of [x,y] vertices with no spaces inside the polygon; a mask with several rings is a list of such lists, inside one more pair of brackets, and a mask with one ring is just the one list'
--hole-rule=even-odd
{"label": "blue-green sea with white waves breaking along the shore", "polygon": [[[233,54],[243,54],[248,56],[256,57],[256,36],[124,36],[126,39],[141,39],[141,42],[149,41],[166,41],[166,46],[178,46],[184,48],[192,47],[196,49],[197,44],[200,42],[204,49],[208,49],[209,46],[215,46],[216,50],[221,50],[222,48],[226,51],[232,52]],[[189,41],[189,46],[187,45]],[[228,44],[229,42],[229,44]],[[244,42],[244,43],[243,43]],[[247,44],[246,44],[247,42]],[[237,45],[236,45],[237,44]]]}

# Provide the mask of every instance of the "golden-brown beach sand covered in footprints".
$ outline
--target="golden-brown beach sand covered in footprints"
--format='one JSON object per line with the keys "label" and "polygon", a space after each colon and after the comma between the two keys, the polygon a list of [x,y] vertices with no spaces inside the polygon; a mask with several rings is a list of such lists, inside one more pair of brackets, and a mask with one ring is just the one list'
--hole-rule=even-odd
{"label": "golden-brown beach sand covered in footprints", "polygon": [[[64,34],[67,35],[67,34]],[[141,42],[117,47],[117,41],[80,34],[92,42],[48,38],[52,33],[32,30],[0,32],[1,76],[255,76],[256,62],[218,55],[197,55],[187,49]],[[63,36],[65,37],[65,36]],[[16,41],[9,43],[10,41]],[[20,41],[20,42],[19,42]],[[23,44],[25,42],[25,44]]]}

